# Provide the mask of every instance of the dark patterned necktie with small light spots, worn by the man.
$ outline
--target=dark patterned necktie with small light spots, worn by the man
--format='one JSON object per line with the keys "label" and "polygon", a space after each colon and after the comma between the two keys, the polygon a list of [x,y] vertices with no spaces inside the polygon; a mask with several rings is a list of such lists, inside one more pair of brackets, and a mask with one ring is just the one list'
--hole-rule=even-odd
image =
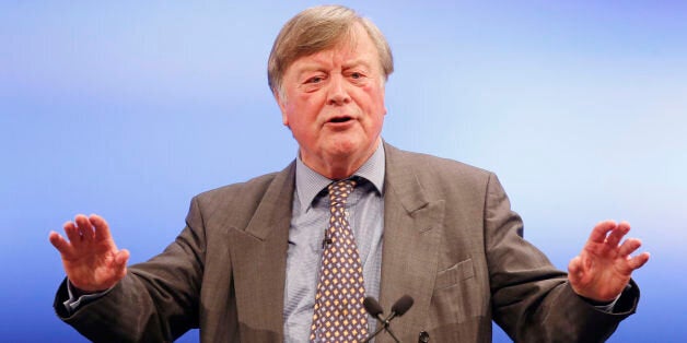
{"label": "dark patterned necktie with small light spots, worn by the man", "polygon": [[331,217],[326,237],[330,240],[319,263],[311,342],[358,342],[368,335],[362,263],[345,209],[353,187],[350,179],[328,187]]}

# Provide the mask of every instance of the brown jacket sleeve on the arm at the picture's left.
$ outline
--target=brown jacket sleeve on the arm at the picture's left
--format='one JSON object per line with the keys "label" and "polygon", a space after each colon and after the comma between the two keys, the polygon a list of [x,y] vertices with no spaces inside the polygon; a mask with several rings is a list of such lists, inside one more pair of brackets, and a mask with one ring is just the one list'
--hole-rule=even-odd
{"label": "brown jacket sleeve on the arm at the picture's left", "polygon": [[198,327],[198,303],[206,237],[197,198],[186,227],[151,260],[128,268],[106,295],[68,314],[65,281],[55,310],[65,322],[95,342],[171,342]]}

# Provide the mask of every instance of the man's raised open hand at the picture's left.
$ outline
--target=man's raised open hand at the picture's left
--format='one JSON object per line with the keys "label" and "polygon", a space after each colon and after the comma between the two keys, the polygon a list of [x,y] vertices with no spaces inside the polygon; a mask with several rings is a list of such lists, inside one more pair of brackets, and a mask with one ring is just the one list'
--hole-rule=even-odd
{"label": "man's raised open hand at the picture's left", "polygon": [[84,293],[105,291],[126,275],[129,251],[117,250],[103,217],[79,214],[74,222],[65,223],[63,228],[69,241],[56,232],[50,232],[49,238],[60,252],[73,286]]}

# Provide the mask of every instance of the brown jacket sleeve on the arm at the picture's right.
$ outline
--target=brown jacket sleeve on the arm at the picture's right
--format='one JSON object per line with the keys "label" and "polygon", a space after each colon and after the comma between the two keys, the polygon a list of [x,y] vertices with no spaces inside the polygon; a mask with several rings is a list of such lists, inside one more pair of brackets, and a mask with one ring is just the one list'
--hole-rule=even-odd
{"label": "brown jacket sleeve on the arm at the picture's right", "polygon": [[523,224],[494,175],[485,199],[485,245],[493,320],[515,342],[603,342],[634,312],[639,288],[631,282],[613,312],[578,296],[567,274],[522,238]]}

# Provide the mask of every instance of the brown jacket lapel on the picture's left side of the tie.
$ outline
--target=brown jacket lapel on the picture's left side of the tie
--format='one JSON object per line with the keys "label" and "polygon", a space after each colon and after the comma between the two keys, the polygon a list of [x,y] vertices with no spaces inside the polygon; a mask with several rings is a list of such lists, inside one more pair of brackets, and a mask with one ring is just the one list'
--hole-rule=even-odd
{"label": "brown jacket lapel on the picture's left side of the tie", "polygon": [[242,341],[283,341],[283,291],[295,164],[268,186],[245,230],[230,246]]}

